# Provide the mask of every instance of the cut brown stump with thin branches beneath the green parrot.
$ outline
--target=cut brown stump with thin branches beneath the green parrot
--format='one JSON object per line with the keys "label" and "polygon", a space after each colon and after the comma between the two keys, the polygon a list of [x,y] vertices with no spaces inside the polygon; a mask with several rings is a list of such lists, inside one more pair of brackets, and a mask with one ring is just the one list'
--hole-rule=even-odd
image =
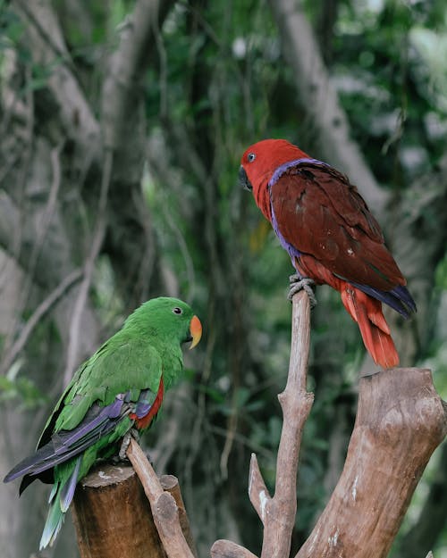
{"label": "cut brown stump with thin branches beneath the green parrot", "polygon": [[128,455],[132,464],[99,463],[76,489],[80,558],[194,558],[178,480],[158,479],[135,440]]}

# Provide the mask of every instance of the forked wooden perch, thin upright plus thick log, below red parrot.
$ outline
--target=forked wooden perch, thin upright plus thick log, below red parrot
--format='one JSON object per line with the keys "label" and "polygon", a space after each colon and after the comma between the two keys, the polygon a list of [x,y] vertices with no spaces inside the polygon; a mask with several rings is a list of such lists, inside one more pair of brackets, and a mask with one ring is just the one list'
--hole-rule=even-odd
{"label": "forked wooden perch, thin upright plus thick log, below red parrot", "polygon": [[[293,297],[291,365],[279,399],[284,422],[270,496],[252,456],[249,497],[264,524],[263,558],[288,558],[296,513],[299,443],[313,396],[306,392],[308,296]],[[342,476],[295,558],[384,558],[434,449],[447,434],[447,407],[431,371],[390,369],[359,380],[358,412]],[[253,558],[218,540],[213,558]]]}

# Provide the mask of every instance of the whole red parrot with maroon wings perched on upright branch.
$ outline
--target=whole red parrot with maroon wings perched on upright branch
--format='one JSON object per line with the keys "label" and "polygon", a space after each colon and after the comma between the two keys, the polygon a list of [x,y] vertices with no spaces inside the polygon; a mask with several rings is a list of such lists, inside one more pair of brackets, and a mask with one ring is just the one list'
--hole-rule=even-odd
{"label": "whole red parrot with maroon wings perched on upright branch", "polygon": [[397,366],[382,303],[404,318],[416,312],[416,304],[357,187],[284,139],[250,146],[242,155],[240,182],[253,191],[299,279],[340,291],[374,362]]}

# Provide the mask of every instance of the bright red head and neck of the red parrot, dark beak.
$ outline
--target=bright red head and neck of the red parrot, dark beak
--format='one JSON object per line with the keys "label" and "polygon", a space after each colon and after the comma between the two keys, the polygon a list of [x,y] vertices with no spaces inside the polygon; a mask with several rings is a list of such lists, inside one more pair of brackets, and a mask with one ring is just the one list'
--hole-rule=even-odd
{"label": "bright red head and neck of the red parrot, dark beak", "polygon": [[285,162],[308,157],[285,139],[263,139],[249,148],[240,160],[239,179],[242,186],[253,190],[259,209],[272,221],[268,182],[274,171]]}

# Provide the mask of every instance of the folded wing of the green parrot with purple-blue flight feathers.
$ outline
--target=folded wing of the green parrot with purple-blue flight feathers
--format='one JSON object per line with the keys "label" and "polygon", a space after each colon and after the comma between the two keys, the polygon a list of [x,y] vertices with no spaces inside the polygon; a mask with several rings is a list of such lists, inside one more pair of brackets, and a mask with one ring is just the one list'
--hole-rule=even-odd
{"label": "folded wing of the green parrot with purple-blue flight feathers", "polygon": [[6,480],[31,476],[24,487],[37,475],[45,481],[46,471],[55,465],[122,437],[133,418],[156,412],[163,371],[156,348],[138,339],[109,343],[81,365],[47,421],[38,450]]}

